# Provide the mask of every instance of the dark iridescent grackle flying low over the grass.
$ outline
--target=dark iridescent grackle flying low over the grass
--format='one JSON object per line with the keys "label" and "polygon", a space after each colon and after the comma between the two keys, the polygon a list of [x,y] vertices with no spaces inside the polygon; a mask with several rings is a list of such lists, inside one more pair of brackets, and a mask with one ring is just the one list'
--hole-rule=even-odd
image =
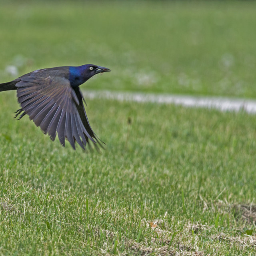
{"label": "dark iridescent grackle flying low over the grass", "polygon": [[89,140],[97,148],[96,143],[100,145],[100,142],[89,124],[79,86],[92,76],[108,71],[110,69],[91,64],[45,68],[0,84],[0,92],[17,90],[21,108],[15,117],[20,114],[20,119],[28,114],[51,140],[55,140],[58,133],[62,146],[67,138],[74,149],[75,142],[85,149]]}

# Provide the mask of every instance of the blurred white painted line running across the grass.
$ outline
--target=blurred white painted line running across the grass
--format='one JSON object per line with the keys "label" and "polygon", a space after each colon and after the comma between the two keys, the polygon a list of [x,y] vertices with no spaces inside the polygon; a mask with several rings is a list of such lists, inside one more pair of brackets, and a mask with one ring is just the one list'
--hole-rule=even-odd
{"label": "blurred white painted line running across the grass", "polygon": [[139,92],[114,92],[107,90],[84,90],[84,98],[104,98],[118,101],[153,102],[176,104],[188,107],[215,108],[221,111],[245,111],[256,113],[256,100],[231,99],[222,97],[200,97],[172,94],[153,94]]}

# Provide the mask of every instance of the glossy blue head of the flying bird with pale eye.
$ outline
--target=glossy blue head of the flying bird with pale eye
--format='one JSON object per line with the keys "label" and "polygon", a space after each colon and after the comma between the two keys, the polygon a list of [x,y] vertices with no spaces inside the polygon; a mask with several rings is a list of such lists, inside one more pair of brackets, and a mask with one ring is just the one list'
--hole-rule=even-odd
{"label": "glossy blue head of the flying bird with pale eye", "polygon": [[110,71],[109,68],[86,64],[78,67],[69,67],[69,81],[72,87],[80,86],[92,76]]}

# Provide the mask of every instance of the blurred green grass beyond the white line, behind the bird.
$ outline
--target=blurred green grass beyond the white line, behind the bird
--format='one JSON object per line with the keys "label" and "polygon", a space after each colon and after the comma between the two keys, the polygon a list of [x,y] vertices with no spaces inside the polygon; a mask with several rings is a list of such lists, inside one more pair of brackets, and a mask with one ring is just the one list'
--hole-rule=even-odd
{"label": "blurred green grass beyond the white line, behind the bird", "polygon": [[111,76],[89,88],[256,97],[254,1],[4,1],[0,77],[6,65],[99,64]]}

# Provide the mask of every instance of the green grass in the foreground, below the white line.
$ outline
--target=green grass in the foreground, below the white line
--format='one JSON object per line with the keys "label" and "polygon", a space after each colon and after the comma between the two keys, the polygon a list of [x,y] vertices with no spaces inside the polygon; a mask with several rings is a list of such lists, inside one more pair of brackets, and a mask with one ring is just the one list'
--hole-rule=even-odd
{"label": "green grass in the foreground, below the white line", "polygon": [[254,224],[233,207],[255,197],[254,116],[89,100],[108,146],[85,154],[0,97],[2,255],[255,254]]}

